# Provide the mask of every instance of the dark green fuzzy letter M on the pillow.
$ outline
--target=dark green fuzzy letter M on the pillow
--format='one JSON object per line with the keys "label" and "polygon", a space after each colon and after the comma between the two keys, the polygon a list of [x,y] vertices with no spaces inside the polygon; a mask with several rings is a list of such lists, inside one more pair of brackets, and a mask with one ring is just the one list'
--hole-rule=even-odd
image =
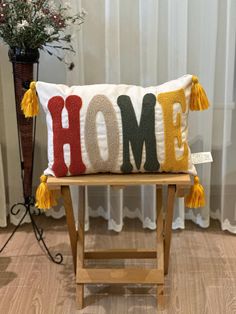
{"label": "dark green fuzzy letter M on the pillow", "polygon": [[123,164],[121,171],[129,173],[133,170],[133,166],[130,162],[130,146],[136,167],[138,170],[140,169],[144,143],[146,149],[144,169],[146,171],[158,171],[160,164],[157,160],[156,151],[155,95],[146,94],[143,97],[142,114],[139,125],[129,96],[119,96],[117,104],[120,107],[123,128]]}

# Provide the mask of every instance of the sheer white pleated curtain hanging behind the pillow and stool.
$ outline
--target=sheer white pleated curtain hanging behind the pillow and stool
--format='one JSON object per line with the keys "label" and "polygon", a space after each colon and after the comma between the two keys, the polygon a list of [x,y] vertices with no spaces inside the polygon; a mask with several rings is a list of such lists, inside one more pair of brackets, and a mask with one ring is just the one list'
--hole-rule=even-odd
{"label": "sheer white pleated curtain hanging behind the pillow and stool", "polygon": [[[236,233],[236,118],[235,110],[235,0],[71,0],[73,11],[88,12],[86,22],[73,34],[77,54],[74,71],[51,57],[41,56],[40,79],[68,85],[126,83],[158,85],[192,73],[205,87],[211,108],[190,113],[192,152],[211,151],[214,162],[197,166],[207,204],[186,210],[176,201],[173,228],[185,219],[201,227],[210,217],[222,229]],[[50,71],[48,70],[50,68]],[[234,118],[234,117],[235,118]],[[39,125],[45,124],[40,118]],[[45,131],[38,132],[37,169],[45,167]],[[40,167],[41,165],[41,167]],[[39,170],[36,169],[36,175]],[[78,191],[73,189],[76,209]],[[87,228],[90,216],[103,216],[108,228],[120,231],[123,218],[138,217],[154,229],[153,186],[114,190],[87,189]],[[60,217],[63,210],[50,211]]]}

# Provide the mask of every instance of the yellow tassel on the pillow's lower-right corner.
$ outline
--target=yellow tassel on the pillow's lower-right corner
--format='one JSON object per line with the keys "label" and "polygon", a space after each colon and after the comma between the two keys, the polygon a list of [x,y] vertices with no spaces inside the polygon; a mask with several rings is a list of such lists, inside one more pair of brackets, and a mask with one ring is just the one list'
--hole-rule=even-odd
{"label": "yellow tassel on the pillow's lower-right corner", "polygon": [[185,197],[185,206],[188,208],[199,208],[205,206],[205,192],[198,176],[194,177],[194,185],[190,193]]}

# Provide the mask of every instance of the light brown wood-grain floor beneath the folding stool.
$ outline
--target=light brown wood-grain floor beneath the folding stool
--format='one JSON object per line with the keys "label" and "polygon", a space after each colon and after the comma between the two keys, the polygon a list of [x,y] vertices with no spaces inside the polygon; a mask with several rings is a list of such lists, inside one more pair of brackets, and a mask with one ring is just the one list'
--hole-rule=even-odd
{"label": "light brown wood-grain floor beneath the folding stool", "polygon": [[[141,286],[87,286],[86,308],[76,311],[75,278],[65,219],[37,218],[52,252],[64,255],[56,265],[43,254],[29,225],[24,225],[0,255],[0,313],[4,314],[143,314],[157,313],[155,289]],[[107,231],[107,223],[91,219],[87,248],[154,247],[155,232],[138,220],[126,220],[122,233]],[[0,229],[0,243],[11,228]],[[153,261],[154,263],[155,261]],[[104,261],[99,261],[101,266]],[[109,263],[112,263],[111,261]],[[122,262],[113,262],[118,267]],[[132,261],[132,264],[137,261]],[[152,260],[143,261],[151,267]],[[131,261],[126,261],[131,265]],[[95,265],[96,266],[96,265]],[[173,232],[169,275],[165,281],[170,314],[236,313],[236,237],[218,223],[203,230],[187,223]]]}

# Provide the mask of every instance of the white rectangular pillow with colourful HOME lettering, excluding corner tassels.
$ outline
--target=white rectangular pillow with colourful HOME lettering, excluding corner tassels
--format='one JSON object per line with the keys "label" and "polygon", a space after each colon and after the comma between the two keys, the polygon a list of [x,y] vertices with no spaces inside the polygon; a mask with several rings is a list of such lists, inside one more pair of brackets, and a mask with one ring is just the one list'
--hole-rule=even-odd
{"label": "white rectangular pillow with colourful HOME lettering, excluding corner tassels", "polygon": [[159,86],[36,83],[48,128],[46,175],[184,172],[192,75]]}

